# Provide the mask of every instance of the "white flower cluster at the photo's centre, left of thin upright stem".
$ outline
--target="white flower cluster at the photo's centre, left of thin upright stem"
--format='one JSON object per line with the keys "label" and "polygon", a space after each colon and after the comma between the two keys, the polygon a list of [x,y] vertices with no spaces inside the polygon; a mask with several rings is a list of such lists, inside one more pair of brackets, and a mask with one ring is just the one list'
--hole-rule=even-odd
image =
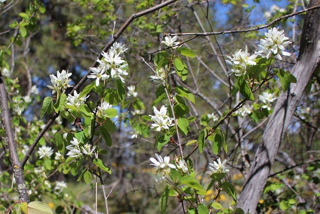
{"label": "white flower cluster at the photo's centre, left of thin upright stem", "polygon": [[167,115],[167,108],[162,105],[160,111],[154,106],[153,111],[155,116],[149,115],[151,120],[155,123],[151,124],[151,128],[156,128],[157,131],[161,131],[163,129],[169,129],[169,126],[173,126],[173,118],[170,118]]}

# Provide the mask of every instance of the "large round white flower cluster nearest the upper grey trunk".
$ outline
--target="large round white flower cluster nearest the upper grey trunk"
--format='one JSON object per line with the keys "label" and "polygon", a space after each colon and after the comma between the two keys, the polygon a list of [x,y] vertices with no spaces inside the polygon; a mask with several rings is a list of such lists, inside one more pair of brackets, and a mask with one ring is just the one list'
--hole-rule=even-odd
{"label": "large round white flower cluster nearest the upper grey trunk", "polygon": [[284,56],[290,56],[291,54],[285,51],[285,47],[288,46],[291,42],[285,41],[289,38],[283,34],[284,30],[278,31],[278,29],[273,28],[268,32],[265,32],[265,39],[260,39],[260,50],[258,51],[259,55],[263,58],[269,59],[271,54],[276,55],[279,60],[282,60],[280,53]]}

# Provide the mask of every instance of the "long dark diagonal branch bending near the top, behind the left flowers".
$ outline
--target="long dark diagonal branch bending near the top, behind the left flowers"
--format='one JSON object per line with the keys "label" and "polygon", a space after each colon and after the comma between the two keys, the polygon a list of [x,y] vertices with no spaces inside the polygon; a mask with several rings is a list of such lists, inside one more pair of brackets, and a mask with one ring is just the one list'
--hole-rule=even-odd
{"label": "long dark diagonal branch bending near the top, behind the left flowers", "polygon": [[[161,9],[162,7],[165,7],[173,2],[175,2],[177,0],[167,0],[163,3],[160,3],[158,4],[157,6],[154,6],[154,7],[151,7],[149,9],[146,9],[146,10],[143,10],[141,12],[138,12],[138,13],[133,13],[128,19],[127,21],[121,26],[121,28],[119,29],[119,31],[117,31],[117,33],[113,36],[113,38],[111,39],[111,41],[103,48],[103,51],[107,51],[111,45],[113,45],[113,43],[117,40],[117,38],[119,38],[119,36],[128,28],[129,24],[134,20],[134,19],[137,19],[141,16],[145,16],[149,13],[152,13],[156,10],[159,10]],[[99,59],[102,58],[102,52],[101,54],[98,56]],[[97,66],[97,61],[95,61],[92,65],[92,67],[96,67]],[[82,77],[82,79],[78,82],[78,84],[73,87],[73,90],[70,92],[70,94],[72,94],[75,90],[77,90],[78,88],[80,88],[85,82],[86,80],[88,79],[87,77],[90,75],[90,71],[88,71],[86,73],[86,75],[84,77]],[[40,131],[40,133],[38,134],[38,136],[35,138],[35,140],[33,141],[29,151],[27,152],[26,156],[23,158],[23,160],[21,161],[21,165],[24,166],[31,153],[33,152],[35,146],[38,144],[40,138],[44,135],[44,133],[48,130],[48,128],[52,125],[52,123],[58,118],[60,112],[58,112],[57,114],[54,114],[52,116],[52,118],[47,122],[47,124],[45,125],[45,127]]]}

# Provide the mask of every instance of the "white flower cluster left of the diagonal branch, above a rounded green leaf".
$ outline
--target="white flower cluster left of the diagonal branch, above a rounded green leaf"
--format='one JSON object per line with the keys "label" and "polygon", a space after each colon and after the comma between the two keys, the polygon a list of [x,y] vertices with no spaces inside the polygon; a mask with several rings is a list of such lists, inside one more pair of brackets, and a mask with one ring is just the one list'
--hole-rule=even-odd
{"label": "white flower cluster left of the diagonal branch, above a rounded green leaf", "polygon": [[50,79],[51,79],[51,83],[52,86],[47,86],[49,89],[52,89],[52,94],[55,94],[56,92],[60,93],[65,92],[65,89],[72,87],[69,85],[69,83],[71,82],[71,79],[69,79],[69,77],[72,75],[72,73],[68,73],[68,71],[62,70],[62,72],[60,73],[60,71],[57,71],[57,76],[51,74],[49,75]]}

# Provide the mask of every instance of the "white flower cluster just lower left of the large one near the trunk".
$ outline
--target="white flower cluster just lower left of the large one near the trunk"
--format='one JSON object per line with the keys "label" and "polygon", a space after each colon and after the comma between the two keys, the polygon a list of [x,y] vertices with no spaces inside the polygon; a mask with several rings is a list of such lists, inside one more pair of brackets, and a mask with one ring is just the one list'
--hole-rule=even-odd
{"label": "white flower cluster just lower left of the large one near the trunk", "polygon": [[249,68],[251,65],[256,65],[256,57],[258,56],[257,53],[249,56],[248,54],[248,47],[246,45],[245,51],[242,51],[242,49],[237,50],[235,54],[232,55],[232,57],[227,56],[230,60],[226,60],[228,64],[231,64],[233,68],[231,69],[230,74],[233,72],[236,76],[241,76],[246,74],[247,68]]}

